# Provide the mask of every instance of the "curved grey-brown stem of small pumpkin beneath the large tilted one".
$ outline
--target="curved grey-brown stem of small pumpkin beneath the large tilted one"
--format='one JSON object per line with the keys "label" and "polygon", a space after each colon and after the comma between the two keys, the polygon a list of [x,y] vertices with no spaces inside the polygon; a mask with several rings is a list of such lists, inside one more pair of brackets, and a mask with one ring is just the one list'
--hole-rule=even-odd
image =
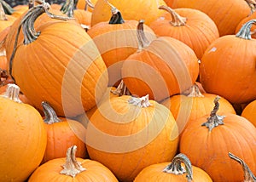
{"label": "curved grey-brown stem of small pumpkin beneath the large tilted one", "polygon": [[55,110],[49,105],[48,102],[43,101],[41,104],[43,106],[45,123],[53,124],[55,122],[61,122],[61,119],[57,117]]}

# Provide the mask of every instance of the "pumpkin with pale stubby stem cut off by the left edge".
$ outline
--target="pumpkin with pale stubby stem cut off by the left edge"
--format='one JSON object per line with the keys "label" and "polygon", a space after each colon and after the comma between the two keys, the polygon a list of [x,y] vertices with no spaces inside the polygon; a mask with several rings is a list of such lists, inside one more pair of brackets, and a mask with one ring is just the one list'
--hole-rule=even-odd
{"label": "pumpkin with pale stubby stem cut off by the left edge", "polygon": [[0,96],[0,179],[26,181],[38,168],[46,148],[43,118],[31,105],[20,102],[20,88],[9,84]]}

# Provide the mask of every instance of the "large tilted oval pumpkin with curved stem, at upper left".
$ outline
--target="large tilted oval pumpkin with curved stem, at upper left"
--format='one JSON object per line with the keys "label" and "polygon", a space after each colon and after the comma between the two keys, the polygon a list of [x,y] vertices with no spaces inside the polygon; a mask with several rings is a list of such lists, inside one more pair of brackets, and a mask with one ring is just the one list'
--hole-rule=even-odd
{"label": "large tilted oval pumpkin with curved stem, at upper left", "polygon": [[[23,22],[32,26],[44,5],[30,9]],[[39,111],[47,100],[59,117],[90,110],[108,86],[107,68],[95,43],[79,24],[67,20],[49,21],[37,32],[26,23],[24,42],[16,41],[14,52],[6,48],[7,55],[12,52],[9,73],[22,93]]]}

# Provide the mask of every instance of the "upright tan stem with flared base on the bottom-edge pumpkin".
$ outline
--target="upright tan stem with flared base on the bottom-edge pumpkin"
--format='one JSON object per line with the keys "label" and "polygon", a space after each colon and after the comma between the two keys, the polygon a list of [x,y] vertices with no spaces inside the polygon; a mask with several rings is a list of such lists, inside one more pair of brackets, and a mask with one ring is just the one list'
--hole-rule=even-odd
{"label": "upright tan stem with flared base on the bottom-edge pumpkin", "polygon": [[86,170],[82,167],[81,162],[78,162],[75,156],[77,146],[73,145],[67,149],[66,163],[62,165],[64,168],[61,174],[72,176],[73,178],[82,171]]}

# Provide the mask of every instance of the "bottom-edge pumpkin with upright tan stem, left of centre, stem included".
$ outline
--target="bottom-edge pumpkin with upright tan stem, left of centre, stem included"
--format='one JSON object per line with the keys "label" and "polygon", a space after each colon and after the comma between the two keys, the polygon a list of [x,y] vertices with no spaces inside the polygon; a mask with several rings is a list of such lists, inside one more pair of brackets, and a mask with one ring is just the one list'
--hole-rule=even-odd
{"label": "bottom-edge pumpkin with upright tan stem, left of centre, stem included", "polygon": [[77,146],[67,149],[66,158],[45,162],[32,173],[28,182],[39,181],[88,181],[118,182],[113,173],[101,163],[75,156]]}

